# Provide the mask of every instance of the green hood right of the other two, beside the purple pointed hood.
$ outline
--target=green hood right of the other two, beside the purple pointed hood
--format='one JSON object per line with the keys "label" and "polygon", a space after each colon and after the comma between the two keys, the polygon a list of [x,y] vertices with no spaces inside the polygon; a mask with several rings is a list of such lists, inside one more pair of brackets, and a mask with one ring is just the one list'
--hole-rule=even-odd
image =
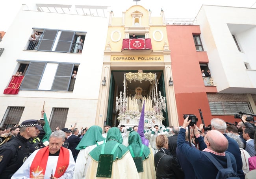
{"label": "green hood right of the other two, beside the purple pointed hood", "polygon": [[140,157],[140,153],[141,153],[141,147],[144,146],[143,149],[143,154],[142,154],[142,160],[146,160],[148,158],[148,156],[150,155],[150,150],[149,148],[142,144],[141,142],[141,137],[139,136],[139,133],[132,131],[129,134],[129,138],[128,138],[128,143],[129,146],[132,147],[132,150],[134,152],[134,157]]}

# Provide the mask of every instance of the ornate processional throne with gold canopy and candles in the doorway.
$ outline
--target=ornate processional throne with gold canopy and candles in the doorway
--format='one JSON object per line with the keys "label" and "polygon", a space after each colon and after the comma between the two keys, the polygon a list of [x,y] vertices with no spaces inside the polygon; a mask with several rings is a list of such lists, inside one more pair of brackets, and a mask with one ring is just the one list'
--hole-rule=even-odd
{"label": "ornate processional throne with gold canopy and candles in the doorway", "polygon": [[[140,83],[150,82],[148,89],[136,87],[129,89],[129,83],[139,81]],[[165,97],[158,91],[158,78],[156,74],[143,73],[143,70],[138,70],[137,73],[124,73],[124,91],[120,91],[119,97],[116,96],[116,112],[119,112],[117,120],[119,126],[125,125],[133,127],[139,124],[141,115],[141,107],[145,102],[145,124],[144,128],[152,127],[153,125],[163,126],[163,112],[166,109]],[[140,94],[140,92],[142,94]],[[134,94],[135,93],[135,94]],[[144,94],[144,96],[143,96]]]}

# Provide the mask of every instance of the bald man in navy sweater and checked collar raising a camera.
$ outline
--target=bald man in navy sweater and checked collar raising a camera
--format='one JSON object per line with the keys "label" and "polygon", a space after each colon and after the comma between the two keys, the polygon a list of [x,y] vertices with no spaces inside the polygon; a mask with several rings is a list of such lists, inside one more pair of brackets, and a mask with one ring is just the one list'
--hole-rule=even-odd
{"label": "bald man in navy sweater and checked collar raising a camera", "polygon": [[[232,168],[235,172],[237,172],[236,160],[234,155],[226,151],[226,149],[228,148],[228,140],[219,131],[211,130],[205,135],[204,142],[207,148],[205,148],[203,151],[192,148],[186,144],[186,127],[191,122],[191,120],[187,120],[188,117],[184,120],[184,123],[178,134],[177,148],[184,154],[184,157],[187,158],[189,163],[192,164],[196,178],[203,179],[207,177],[208,179],[215,179],[218,173],[218,169],[210,161],[210,159],[206,157],[204,152],[209,152],[224,168],[227,168],[226,155],[229,155],[232,162]],[[196,125],[194,125],[194,127],[196,128],[196,130],[194,131],[195,136],[197,137],[199,134],[199,132],[197,131],[198,127]],[[182,169],[185,173],[186,166],[184,166]]]}

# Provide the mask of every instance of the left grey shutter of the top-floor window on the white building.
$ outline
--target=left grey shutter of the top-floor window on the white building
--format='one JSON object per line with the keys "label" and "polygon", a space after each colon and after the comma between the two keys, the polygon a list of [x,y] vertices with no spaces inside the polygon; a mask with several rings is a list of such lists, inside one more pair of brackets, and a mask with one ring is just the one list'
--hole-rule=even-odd
{"label": "left grey shutter of the top-floor window on the white building", "polygon": [[57,32],[57,30],[45,30],[37,50],[51,51]]}

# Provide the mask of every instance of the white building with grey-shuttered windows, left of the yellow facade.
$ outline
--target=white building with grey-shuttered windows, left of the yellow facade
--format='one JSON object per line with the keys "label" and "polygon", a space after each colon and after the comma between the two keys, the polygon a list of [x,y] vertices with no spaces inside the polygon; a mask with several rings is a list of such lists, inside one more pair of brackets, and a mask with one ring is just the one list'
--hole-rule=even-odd
{"label": "white building with grey-shuttered windows, left of the yellow facade", "polygon": [[[2,127],[39,119],[44,102],[52,129],[95,124],[107,15],[107,6],[22,6],[0,44]],[[30,43],[35,31],[41,33],[40,41]],[[74,70],[76,79],[71,78]],[[17,71],[24,74],[19,93],[3,94]]]}

